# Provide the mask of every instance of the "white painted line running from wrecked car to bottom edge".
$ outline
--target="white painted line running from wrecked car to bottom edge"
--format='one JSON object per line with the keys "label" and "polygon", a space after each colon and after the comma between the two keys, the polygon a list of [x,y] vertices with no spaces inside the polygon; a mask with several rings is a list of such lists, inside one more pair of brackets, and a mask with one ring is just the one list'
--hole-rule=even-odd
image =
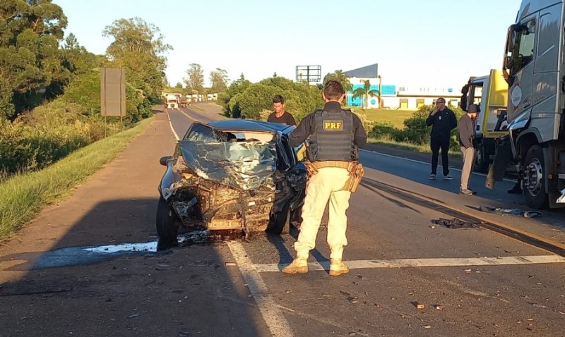
{"label": "white painted line running from wrecked car to bottom edge", "polygon": [[247,288],[253,296],[259,311],[265,320],[272,336],[294,336],[290,330],[287,320],[280,312],[278,305],[268,295],[268,288],[263,282],[261,275],[256,270],[251,259],[247,256],[241,243],[230,241],[227,243],[235,259],[239,271],[247,283]]}

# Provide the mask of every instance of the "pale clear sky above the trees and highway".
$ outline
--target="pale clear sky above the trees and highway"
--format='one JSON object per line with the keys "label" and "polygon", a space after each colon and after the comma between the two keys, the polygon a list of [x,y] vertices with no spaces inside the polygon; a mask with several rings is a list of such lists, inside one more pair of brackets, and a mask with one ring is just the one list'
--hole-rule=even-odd
{"label": "pale clear sky above the trees and highway", "polygon": [[[190,63],[243,73],[257,82],[296,66],[320,65],[322,77],[379,63],[383,85],[459,88],[471,75],[500,68],[506,30],[521,0],[54,0],[78,42],[104,54],[105,26],[139,17],[160,28],[167,80],[182,82]],[[353,83],[355,84],[355,83]],[[376,84],[376,83],[374,83]]]}

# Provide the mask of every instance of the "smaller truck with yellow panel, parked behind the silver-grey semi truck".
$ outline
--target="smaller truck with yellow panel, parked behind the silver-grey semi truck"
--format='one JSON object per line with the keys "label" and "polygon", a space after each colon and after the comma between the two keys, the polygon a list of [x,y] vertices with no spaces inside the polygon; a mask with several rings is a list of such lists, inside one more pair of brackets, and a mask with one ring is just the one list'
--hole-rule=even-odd
{"label": "smaller truck with yellow panel, parked behind the silver-grey semi truck", "polygon": [[468,111],[471,104],[480,106],[476,136],[473,145],[477,152],[473,171],[487,172],[494,159],[496,140],[508,132],[504,118],[508,100],[508,84],[502,71],[491,70],[489,75],[471,77],[461,89],[461,109]]}

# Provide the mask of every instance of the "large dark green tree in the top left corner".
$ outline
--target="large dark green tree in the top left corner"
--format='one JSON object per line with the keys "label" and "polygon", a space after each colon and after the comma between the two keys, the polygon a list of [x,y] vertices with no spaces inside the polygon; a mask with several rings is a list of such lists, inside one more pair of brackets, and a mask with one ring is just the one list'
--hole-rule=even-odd
{"label": "large dark green tree in the top left corner", "polygon": [[66,78],[59,41],[67,19],[52,0],[4,0],[0,6],[0,116],[32,109]]}

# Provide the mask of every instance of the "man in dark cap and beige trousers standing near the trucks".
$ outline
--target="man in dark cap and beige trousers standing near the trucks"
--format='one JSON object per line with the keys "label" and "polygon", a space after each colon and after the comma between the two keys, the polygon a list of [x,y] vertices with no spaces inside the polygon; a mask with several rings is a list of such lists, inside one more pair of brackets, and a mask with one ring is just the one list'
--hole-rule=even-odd
{"label": "man in dark cap and beige trousers standing near the trucks", "polygon": [[477,104],[471,104],[457,125],[459,132],[459,145],[461,154],[463,154],[463,169],[461,169],[461,185],[459,188],[460,195],[474,195],[475,192],[469,189],[469,177],[471,175],[472,163],[475,161],[475,147],[472,146],[472,140],[475,138],[475,121],[480,113]]}

